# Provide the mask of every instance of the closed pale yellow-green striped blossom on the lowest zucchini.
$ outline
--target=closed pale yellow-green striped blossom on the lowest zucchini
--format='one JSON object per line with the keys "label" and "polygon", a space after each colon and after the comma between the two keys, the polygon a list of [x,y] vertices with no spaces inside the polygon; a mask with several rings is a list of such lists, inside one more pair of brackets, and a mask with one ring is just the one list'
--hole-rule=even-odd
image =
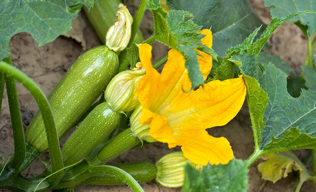
{"label": "closed pale yellow-green striped blossom on the lowest zucchini", "polygon": [[181,187],[184,182],[184,166],[187,163],[195,165],[181,151],[163,156],[156,162],[157,183],[165,187]]}

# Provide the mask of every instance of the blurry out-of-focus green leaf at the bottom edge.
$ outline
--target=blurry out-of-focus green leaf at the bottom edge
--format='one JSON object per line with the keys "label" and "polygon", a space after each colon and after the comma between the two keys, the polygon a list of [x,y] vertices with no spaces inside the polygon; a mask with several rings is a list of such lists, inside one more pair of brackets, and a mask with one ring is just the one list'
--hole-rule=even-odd
{"label": "blurry out-of-focus green leaf at the bottom edge", "polygon": [[247,173],[247,163],[236,159],[226,165],[208,164],[202,170],[187,164],[182,192],[246,192]]}

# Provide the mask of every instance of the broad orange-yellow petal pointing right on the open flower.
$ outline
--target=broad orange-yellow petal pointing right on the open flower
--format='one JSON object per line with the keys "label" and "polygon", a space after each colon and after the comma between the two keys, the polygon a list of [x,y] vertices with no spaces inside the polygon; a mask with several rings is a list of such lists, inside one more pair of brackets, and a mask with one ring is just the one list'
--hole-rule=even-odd
{"label": "broad orange-yellow petal pointing right on the open flower", "polygon": [[242,76],[225,81],[214,80],[185,97],[174,100],[169,108],[159,112],[168,117],[170,127],[210,128],[223,126],[240,110],[246,96]]}

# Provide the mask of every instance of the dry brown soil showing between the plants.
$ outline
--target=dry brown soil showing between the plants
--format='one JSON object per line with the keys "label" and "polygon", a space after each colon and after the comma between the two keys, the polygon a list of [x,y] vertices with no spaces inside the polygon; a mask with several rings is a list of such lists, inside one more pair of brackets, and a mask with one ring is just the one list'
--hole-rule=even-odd
{"label": "dry brown soil showing between the plants", "polygon": [[[139,4],[139,1],[134,1]],[[255,12],[262,18],[264,23],[269,24],[271,17],[269,8],[265,8],[262,0],[250,0],[250,3]],[[136,8],[133,5],[131,14],[135,14]],[[65,71],[78,56],[86,50],[100,45],[100,41],[94,33],[91,25],[88,23],[84,14],[80,14],[80,26],[76,30],[72,38],[64,36],[58,37],[54,42],[48,43],[43,47],[38,47],[38,44],[28,33],[19,33],[11,39],[11,52],[13,65],[19,68],[30,76],[44,91],[46,95],[54,88],[59,80],[65,74]],[[141,24],[141,31],[144,37],[149,37],[153,31],[152,17],[149,12],[145,13],[144,20]],[[147,19],[146,19],[147,18]],[[304,35],[295,25],[285,23],[281,25],[270,37],[268,41],[271,45],[268,53],[270,55],[279,55],[281,59],[289,63],[292,68],[300,71],[300,65],[303,64],[305,54],[307,53],[307,43]],[[153,46],[153,61],[156,61],[167,54],[167,48],[160,43],[155,43]],[[33,114],[38,110],[38,106],[33,97],[28,91],[17,83],[18,94],[21,103],[22,118],[25,127],[32,119]],[[3,154],[7,160],[14,152],[13,147],[13,133],[10,123],[9,106],[6,92],[3,95],[3,104],[0,116],[0,153]],[[251,129],[250,117],[248,113],[247,104],[245,103],[239,114],[226,126],[215,127],[208,129],[210,135],[215,137],[224,136],[230,142],[234,155],[238,159],[247,159],[254,149],[253,133]],[[65,137],[66,138],[66,137]],[[61,143],[65,141],[61,140]],[[123,153],[118,158],[115,158],[111,163],[148,161],[155,163],[155,161],[170,152],[180,150],[179,147],[169,149],[167,144],[156,143],[140,149],[131,150]],[[303,159],[309,150],[299,150],[295,153],[299,158]],[[48,152],[41,155],[43,160],[48,160]],[[260,161],[260,160],[259,160]],[[261,179],[261,174],[257,169],[258,162],[254,163],[249,168],[249,184],[248,192],[291,192],[295,191],[295,187],[299,182],[298,173],[290,173],[285,179],[272,182]],[[44,166],[40,161],[34,161],[30,167],[27,168],[23,174],[27,177],[32,177],[44,170]],[[141,184],[145,191],[150,192],[179,192],[181,188],[167,188],[157,185],[155,181]],[[127,192],[131,191],[126,185],[113,186],[79,186],[75,188],[82,192]],[[7,190],[3,190],[7,191]],[[301,192],[314,191],[312,186],[306,182],[301,188]]]}

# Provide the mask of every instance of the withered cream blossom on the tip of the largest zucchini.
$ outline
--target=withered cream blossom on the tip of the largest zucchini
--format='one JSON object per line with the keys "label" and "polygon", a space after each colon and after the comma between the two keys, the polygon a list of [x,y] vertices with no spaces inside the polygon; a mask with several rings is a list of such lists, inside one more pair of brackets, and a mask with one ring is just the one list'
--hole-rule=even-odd
{"label": "withered cream blossom on the tip of the largest zucchini", "polygon": [[133,18],[122,3],[119,4],[119,10],[116,12],[116,20],[106,33],[106,46],[117,52],[126,48],[131,39]]}

